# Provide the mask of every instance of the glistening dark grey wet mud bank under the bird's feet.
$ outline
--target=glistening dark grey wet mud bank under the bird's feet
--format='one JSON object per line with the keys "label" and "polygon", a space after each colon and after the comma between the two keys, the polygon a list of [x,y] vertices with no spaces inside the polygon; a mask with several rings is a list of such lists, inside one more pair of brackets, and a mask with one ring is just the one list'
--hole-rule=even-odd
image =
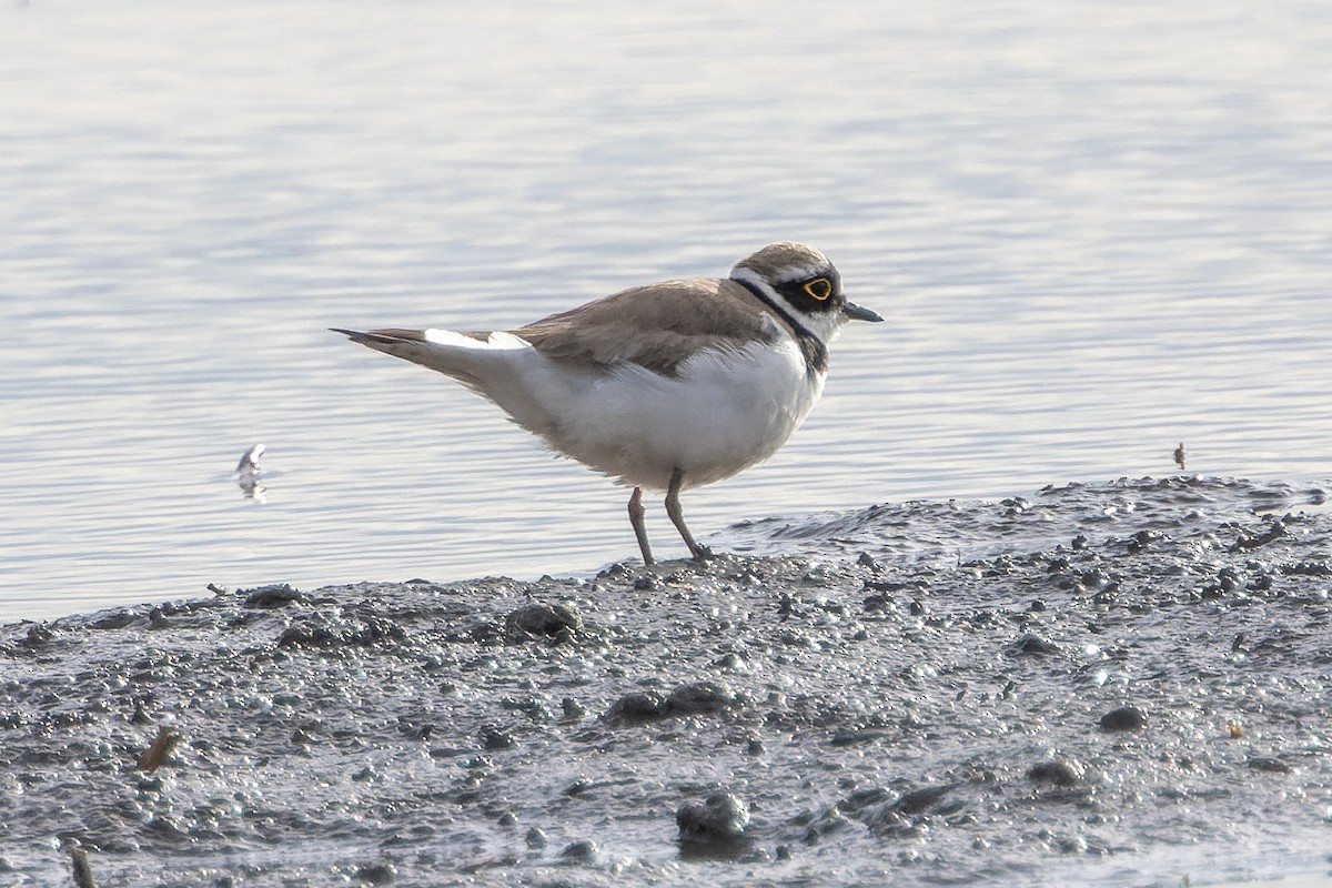
{"label": "glistening dark grey wet mud bank under the bird's feet", "polygon": [[1071,485],[5,626],[0,884],[1327,873],[1324,499]]}

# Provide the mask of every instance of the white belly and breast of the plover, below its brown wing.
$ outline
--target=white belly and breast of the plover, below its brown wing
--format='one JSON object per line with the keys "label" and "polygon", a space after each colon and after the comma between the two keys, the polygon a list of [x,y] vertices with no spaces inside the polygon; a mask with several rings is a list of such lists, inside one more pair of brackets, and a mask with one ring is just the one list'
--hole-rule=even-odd
{"label": "white belly and breast of the plover, below its brown wing", "polygon": [[[771,457],[823,391],[794,341],[709,351],[674,377],[626,365],[570,371],[546,362],[551,391],[543,429],[553,449],[626,485],[666,489],[729,478]],[[522,423],[527,425],[527,423]]]}

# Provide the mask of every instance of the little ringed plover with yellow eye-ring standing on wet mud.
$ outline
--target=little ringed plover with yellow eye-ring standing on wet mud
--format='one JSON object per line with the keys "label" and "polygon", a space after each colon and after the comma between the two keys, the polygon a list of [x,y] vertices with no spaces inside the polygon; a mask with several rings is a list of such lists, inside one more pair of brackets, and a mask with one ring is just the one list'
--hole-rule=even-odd
{"label": "little ringed plover with yellow eye-ring standing on wet mud", "polygon": [[771,244],[725,278],[635,286],[518,328],[481,333],[333,329],[453,377],[547,447],[631,486],[643,562],[643,489],[695,558],[679,493],[771,457],[823,393],[827,346],[847,321],[882,321],[847,301],[823,253]]}

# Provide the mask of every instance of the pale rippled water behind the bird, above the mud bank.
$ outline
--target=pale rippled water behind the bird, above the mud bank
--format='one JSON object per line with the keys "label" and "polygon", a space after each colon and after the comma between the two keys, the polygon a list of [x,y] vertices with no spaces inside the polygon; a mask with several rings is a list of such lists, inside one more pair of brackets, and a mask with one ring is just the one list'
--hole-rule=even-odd
{"label": "pale rippled water behind the bird, above the mud bank", "polygon": [[1313,1],[9,3],[0,618],[630,556],[623,491],[325,328],[511,326],[779,238],[890,322],[686,499],[702,538],[1180,441],[1328,478],[1328,45]]}

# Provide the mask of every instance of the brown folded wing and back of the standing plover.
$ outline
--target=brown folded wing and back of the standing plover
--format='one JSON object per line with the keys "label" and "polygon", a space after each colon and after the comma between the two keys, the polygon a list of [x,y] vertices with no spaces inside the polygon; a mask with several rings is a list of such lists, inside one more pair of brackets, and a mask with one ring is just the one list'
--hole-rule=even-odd
{"label": "brown folded wing and back of the standing plover", "polygon": [[771,321],[745,288],[717,278],[635,286],[517,330],[549,358],[638,363],[673,375],[701,349],[770,341]]}

